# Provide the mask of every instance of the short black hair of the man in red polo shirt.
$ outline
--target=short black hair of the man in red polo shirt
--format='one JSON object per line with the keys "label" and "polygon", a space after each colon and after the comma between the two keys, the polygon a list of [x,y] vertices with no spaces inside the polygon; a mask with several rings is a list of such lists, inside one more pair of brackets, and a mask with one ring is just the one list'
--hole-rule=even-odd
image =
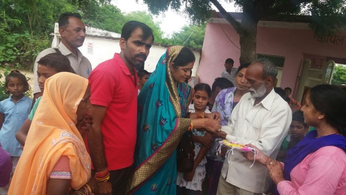
{"label": "short black hair of the man in red polo shirt", "polygon": [[151,36],[153,38],[153,42],[155,41],[154,34],[151,28],[142,22],[138,22],[134,20],[131,20],[124,24],[123,29],[121,31],[120,38],[124,38],[125,41],[128,41],[128,39],[131,37],[132,32],[136,30],[137,28],[142,29],[143,40],[147,40]]}

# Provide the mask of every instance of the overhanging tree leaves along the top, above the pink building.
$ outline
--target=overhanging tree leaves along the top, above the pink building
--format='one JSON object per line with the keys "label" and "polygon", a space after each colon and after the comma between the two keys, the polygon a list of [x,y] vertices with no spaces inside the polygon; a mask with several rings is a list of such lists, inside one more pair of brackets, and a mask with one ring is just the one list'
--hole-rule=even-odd
{"label": "overhanging tree leaves along the top, above the pink building", "polygon": [[262,18],[290,20],[292,15],[311,15],[310,27],[318,35],[330,34],[346,26],[345,0],[143,0],[151,13],[158,15],[170,7],[200,24],[211,16],[212,3],[233,2],[253,21]]}

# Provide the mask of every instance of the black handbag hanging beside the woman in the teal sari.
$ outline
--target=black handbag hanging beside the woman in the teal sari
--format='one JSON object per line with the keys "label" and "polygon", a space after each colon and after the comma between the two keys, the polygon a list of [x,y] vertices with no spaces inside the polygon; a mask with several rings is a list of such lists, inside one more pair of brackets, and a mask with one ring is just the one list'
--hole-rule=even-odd
{"label": "black handbag hanging beside the woman in the teal sari", "polygon": [[186,173],[193,170],[195,157],[195,143],[192,132],[186,131],[182,136],[176,150],[176,164],[179,172]]}

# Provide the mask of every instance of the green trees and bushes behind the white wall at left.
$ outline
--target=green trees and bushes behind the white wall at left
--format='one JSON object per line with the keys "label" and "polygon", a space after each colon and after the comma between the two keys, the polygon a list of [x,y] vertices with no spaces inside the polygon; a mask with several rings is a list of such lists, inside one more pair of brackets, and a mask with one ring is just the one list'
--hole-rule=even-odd
{"label": "green trees and bushes behind the white wall at left", "polygon": [[[164,38],[160,23],[144,11],[123,14],[111,0],[1,0],[0,66],[32,70],[37,54],[50,47],[49,34],[63,12],[79,12],[95,28],[121,33],[130,20],[144,22],[153,30],[155,43],[201,48],[205,28],[184,27]],[[177,5],[176,5],[177,6]]]}

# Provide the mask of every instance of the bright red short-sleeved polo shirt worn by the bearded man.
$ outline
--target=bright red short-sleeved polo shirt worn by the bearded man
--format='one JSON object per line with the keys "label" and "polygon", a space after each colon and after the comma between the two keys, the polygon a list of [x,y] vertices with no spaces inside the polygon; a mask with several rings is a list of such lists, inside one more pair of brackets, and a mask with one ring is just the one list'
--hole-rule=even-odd
{"label": "bright red short-sleeved polo shirt worn by the bearded man", "polygon": [[136,144],[137,72],[132,76],[120,55],[115,53],[113,59],[92,70],[88,79],[91,103],[107,107],[101,132],[108,169],[129,167]]}

